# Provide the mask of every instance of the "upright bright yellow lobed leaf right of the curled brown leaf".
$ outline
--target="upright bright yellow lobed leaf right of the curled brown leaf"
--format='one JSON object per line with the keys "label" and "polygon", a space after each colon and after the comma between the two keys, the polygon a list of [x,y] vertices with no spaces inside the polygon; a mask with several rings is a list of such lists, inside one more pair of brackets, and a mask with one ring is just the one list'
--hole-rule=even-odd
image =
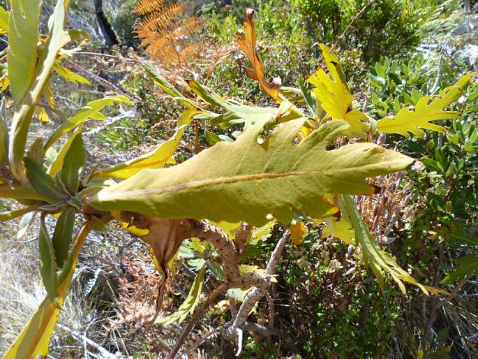
{"label": "upright bright yellow lobed leaf right of the curled brown leaf", "polygon": [[348,134],[362,136],[366,129],[362,121],[368,120],[368,117],[363,112],[352,108],[352,94],[348,89],[338,58],[324,44],[320,44],[320,48],[331,77],[323,68],[320,68],[307,81],[315,86],[313,93],[329,117],[345,120],[350,124]]}

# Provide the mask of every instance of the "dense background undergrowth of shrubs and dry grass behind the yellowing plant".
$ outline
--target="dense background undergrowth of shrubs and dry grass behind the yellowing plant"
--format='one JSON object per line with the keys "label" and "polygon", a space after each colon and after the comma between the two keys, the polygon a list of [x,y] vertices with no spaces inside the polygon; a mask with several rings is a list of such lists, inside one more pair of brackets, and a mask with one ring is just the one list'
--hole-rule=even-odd
{"label": "dense background undergrowth of shrubs and dry grass behind the yellowing plant", "polygon": [[[72,3],[75,24],[91,22],[91,8],[81,1]],[[111,153],[130,159],[149,151],[171,137],[181,114],[180,103],[165,101],[170,96],[141,66],[145,58],[132,36],[135,1],[105,3],[111,7],[107,15],[123,46],[106,50],[98,33],[83,54],[68,59],[66,66],[91,84],[66,85],[54,78],[52,86],[61,88],[54,91],[57,117],[35,124],[38,133],[53,129],[98,93],[133,98],[135,108],[125,106],[108,114],[103,124],[87,125],[93,143],[89,152],[96,161],[111,161]],[[256,29],[269,77],[280,77],[283,87],[308,88],[304,81],[323,66],[318,43],[326,43],[341,60],[360,108],[372,117],[396,115],[401,106],[417,105],[424,95],[438,95],[477,68],[478,6],[472,1],[239,0],[197,7],[203,24],[194,41],[202,48],[186,63],[156,64],[158,71],[190,96],[184,78],[200,80],[215,93],[241,103],[274,103],[237,65],[241,55],[234,45],[235,34],[243,27],[247,7],[257,10]],[[301,96],[283,90],[288,98]],[[264,298],[251,314],[256,323],[275,323],[283,337],[244,332],[239,358],[478,357],[477,98],[475,80],[456,105],[463,115],[440,122],[446,133],[426,132],[423,138],[369,133],[369,141],[398,148],[420,161],[379,179],[381,192],[373,198],[357,198],[380,247],[419,282],[444,286],[453,296],[428,297],[417,288],[408,288],[403,295],[393,281],[380,288],[352,244],[334,238],[321,224],[306,222],[303,240],[287,244],[270,301]],[[301,106],[307,108],[304,101]],[[175,159],[182,162],[218,140],[233,140],[237,130],[196,119]],[[4,209],[10,205],[2,203]],[[1,224],[0,353],[45,294],[37,269],[35,228],[15,239],[17,228],[18,224]],[[255,237],[244,251],[244,264],[264,268],[280,228],[276,225],[270,233]],[[204,261],[217,263],[218,254],[204,247],[195,242],[182,245],[177,277],[168,288],[161,315],[181,305]],[[202,252],[191,256],[194,251]],[[219,283],[211,268],[214,265],[204,277],[203,297]],[[148,325],[155,312],[157,284],[145,245],[118,228],[91,237],[80,255],[50,356],[102,358],[101,350],[119,358],[165,356],[181,325]],[[231,291],[224,299],[235,298],[239,304],[243,295]],[[209,309],[184,346],[191,349],[188,356],[234,358],[237,343],[217,330],[230,321],[231,303],[222,300]]]}

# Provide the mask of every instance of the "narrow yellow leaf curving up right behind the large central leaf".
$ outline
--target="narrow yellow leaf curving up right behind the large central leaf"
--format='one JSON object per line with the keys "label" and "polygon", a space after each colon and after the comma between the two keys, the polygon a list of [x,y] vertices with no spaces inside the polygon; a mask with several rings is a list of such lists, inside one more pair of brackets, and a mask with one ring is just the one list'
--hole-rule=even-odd
{"label": "narrow yellow leaf curving up right behind the large central leaf", "polygon": [[172,138],[159,145],[154,151],[131,159],[130,161],[104,168],[100,170],[96,176],[126,179],[139,173],[144,168],[163,168],[166,163],[176,163],[176,161],[172,159],[172,155],[176,151],[186,127],[193,120],[195,112],[195,108],[184,111],[181,117],[179,117],[177,129]]}

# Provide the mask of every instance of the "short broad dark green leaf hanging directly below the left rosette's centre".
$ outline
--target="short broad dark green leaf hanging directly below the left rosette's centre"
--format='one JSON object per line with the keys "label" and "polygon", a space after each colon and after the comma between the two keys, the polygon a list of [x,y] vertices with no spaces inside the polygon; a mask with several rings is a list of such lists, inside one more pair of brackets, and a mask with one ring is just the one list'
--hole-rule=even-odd
{"label": "short broad dark green leaf hanging directly below the left rosette's centre", "polygon": [[75,224],[75,209],[73,207],[66,207],[66,210],[60,214],[57,220],[57,226],[53,233],[53,249],[58,268],[63,268],[63,265],[68,258],[70,251],[70,244],[73,238],[73,225]]}

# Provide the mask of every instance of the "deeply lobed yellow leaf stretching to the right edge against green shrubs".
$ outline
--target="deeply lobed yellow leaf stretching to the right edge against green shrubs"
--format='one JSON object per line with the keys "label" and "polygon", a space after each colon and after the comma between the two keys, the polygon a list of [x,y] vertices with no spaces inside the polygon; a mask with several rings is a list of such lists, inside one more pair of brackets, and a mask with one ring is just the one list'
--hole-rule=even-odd
{"label": "deeply lobed yellow leaf stretching to the right edge against green shrubs", "polygon": [[439,96],[423,96],[414,108],[402,108],[395,117],[389,116],[378,120],[377,130],[383,133],[398,133],[406,138],[410,138],[410,133],[420,138],[424,137],[422,129],[446,133],[444,127],[432,124],[431,121],[455,119],[460,116],[460,112],[444,109],[464,94],[464,87],[476,73],[475,71],[463,75],[455,85],[442,90]]}

